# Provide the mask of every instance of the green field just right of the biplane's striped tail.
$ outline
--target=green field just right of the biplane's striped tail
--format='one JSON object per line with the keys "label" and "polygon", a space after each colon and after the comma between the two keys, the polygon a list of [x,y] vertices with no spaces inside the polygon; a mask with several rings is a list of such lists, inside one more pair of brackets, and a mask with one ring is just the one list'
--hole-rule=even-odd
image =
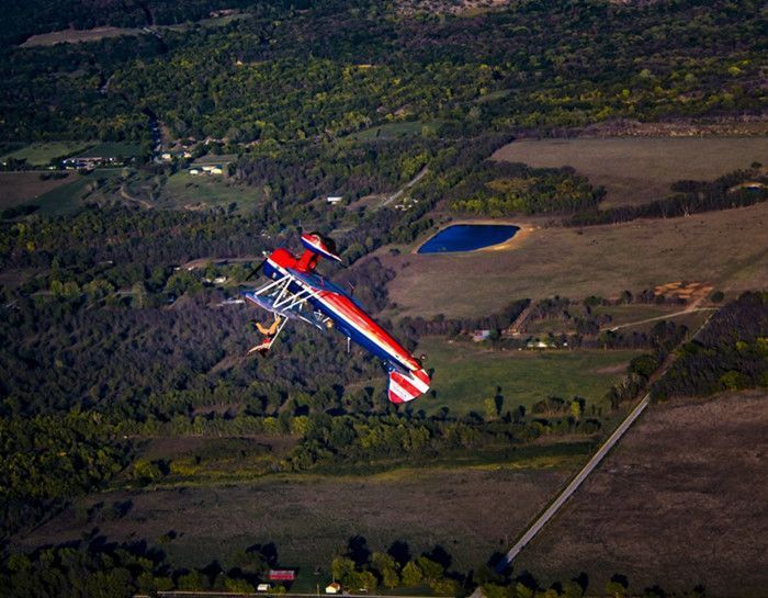
{"label": "green field just right of the biplane's striped tail", "polygon": [[[419,398],[418,407],[436,413],[448,407],[452,414],[484,414],[484,402],[496,394],[504,397],[504,410],[518,405],[530,409],[547,396],[580,396],[590,405],[603,405],[603,395],[619,380],[626,363],[640,351],[546,350],[492,351],[481,345],[450,343],[425,339],[418,348],[427,356],[425,365],[434,369],[432,390],[437,396]],[[500,388],[500,391],[498,390]]]}

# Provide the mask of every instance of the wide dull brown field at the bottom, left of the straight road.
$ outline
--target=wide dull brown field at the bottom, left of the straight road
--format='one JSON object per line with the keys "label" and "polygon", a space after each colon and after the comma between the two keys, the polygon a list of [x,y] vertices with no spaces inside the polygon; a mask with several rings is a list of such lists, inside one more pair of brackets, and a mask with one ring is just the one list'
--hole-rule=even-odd
{"label": "wide dull brown field at the bottom, left of the straight road", "polygon": [[269,476],[237,486],[111,492],[78,499],[80,510],[129,499],[133,507],[123,519],[87,522],[76,515],[78,508],[70,508],[15,538],[14,544],[76,540],[93,527],[110,540],[155,543],[173,530],[176,539],[161,550],[178,564],[226,562],[255,543],[274,542],[282,564],[327,571],[337,551],[359,534],[372,550],[386,550],[396,540],[406,541],[415,555],[442,545],[453,566],[465,571],[501,550],[568,475],[562,469],[501,465],[374,476]]}

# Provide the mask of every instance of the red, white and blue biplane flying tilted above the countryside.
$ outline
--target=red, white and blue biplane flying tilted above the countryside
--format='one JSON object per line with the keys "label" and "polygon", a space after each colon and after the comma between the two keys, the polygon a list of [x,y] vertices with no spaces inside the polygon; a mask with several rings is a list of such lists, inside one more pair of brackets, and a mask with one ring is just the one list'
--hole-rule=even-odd
{"label": "red, white and blue biplane flying tilted above the countryside", "polygon": [[273,315],[268,326],[255,323],[263,340],[248,352],[267,353],[289,320],[303,320],[320,330],[336,328],[347,337],[348,347],[350,341],[355,342],[384,362],[392,403],[406,403],[425,394],[430,377],[421,362],[376,324],[352,296],[315,272],[320,258],[341,261],[332,239],[305,233],[302,245],[304,252],[298,258],[283,248],[272,251],[257,268],[269,282],[242,292],[247,301]]}

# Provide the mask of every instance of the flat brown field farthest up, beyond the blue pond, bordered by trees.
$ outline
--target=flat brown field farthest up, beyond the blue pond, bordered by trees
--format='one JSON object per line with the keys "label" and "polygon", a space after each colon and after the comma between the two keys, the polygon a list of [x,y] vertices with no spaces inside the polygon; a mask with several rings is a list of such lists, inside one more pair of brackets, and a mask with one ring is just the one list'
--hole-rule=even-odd
{"label": "flat brown field farthest up, beyond the blue pond, bordered by trees", "polygon": [[613,206],[662,199],[682,179],[708,181],[754,161],[768,165],[768,137],[522,139],[494,158],[534,167],[572,166],[592,184],[605,185],[605,205]]}

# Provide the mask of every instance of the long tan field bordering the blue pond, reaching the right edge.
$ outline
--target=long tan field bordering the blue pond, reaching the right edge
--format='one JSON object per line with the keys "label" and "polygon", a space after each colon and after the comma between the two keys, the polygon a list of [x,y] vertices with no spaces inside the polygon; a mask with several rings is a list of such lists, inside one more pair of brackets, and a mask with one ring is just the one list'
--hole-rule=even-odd
{"label": "long tan field bordering the blue pond, reaching the right edge", "polygon": [[733,296],[768,286],[767,226],[768,204],[759,204],[583,230],[535,228],[496,251],[379,257],[397,272],[388,290],[398,315],[474,316],[523,297],[614,296],[674,281]]}

